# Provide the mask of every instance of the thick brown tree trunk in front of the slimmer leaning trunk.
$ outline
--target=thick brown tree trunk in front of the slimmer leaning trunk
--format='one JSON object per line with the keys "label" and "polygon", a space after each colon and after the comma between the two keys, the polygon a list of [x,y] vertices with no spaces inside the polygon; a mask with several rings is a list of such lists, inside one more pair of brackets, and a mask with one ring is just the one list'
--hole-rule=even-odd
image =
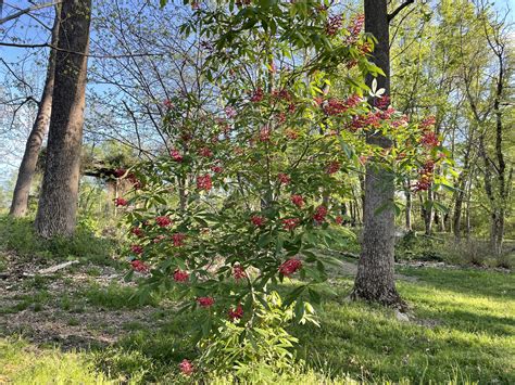
{"label": "thick brown tree trunk in front of the slimmer leaning trunk", "polygon": [[53,107],[36,230],[50,238],[75,230],[91,0],[64,0],[55,59]]}

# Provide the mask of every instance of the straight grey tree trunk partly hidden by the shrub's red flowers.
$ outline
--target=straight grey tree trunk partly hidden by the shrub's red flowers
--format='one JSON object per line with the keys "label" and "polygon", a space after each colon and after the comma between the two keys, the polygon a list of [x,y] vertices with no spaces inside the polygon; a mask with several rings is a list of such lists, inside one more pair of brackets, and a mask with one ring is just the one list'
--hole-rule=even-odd
{"label": "straight grey tree trunk partly hidden by the shrub's red flowers", "polygon": [[[378,88],[390,94],[390,39],[387,0],[365,0],[365,31],[374,35],[377,44],[374,62],[386,74],[377,78]],[[367,79],[368,85],[372,78]],[[380,134],[370,134],[367,142],[384,149],[392,145]],[[389,166],[367,163],[365,174],[363,245],[357,275],[351,297],[378,301],[389,306],[403,306],[393,279],[394,211],[385,204],[393,204],[394,179]]]}

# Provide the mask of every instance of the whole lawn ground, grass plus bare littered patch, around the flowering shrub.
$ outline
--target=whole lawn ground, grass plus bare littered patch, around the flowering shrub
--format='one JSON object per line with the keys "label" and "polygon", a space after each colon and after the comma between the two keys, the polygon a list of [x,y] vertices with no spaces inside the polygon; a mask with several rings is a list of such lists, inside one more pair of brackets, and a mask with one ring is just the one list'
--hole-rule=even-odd
{"label": "whole lawn ground, grass plus bare littered patch, around the flowering shrub", "polygon": [[[67,255],[78,259],[90,242],[64,244],[65,255],[52,259],[29,245],[14,255],[2,238],[0,229],[0,384],[188,383],[177,364],[198,356],[187,333],[194,315],[178,313],[171,293],[134,298],[137,286],[124,282],[121,264],[99,262],[108,243],[101,241],[90,258],[40,277],[34,274],[38,268]],[[335,272],[319,287],[321,326],[290,330],[304,363],[268,381],[515,384],[512,273],[409,267],[398,273],[412,308],[409,322],[379,306],[348,303],[352,277]]]}

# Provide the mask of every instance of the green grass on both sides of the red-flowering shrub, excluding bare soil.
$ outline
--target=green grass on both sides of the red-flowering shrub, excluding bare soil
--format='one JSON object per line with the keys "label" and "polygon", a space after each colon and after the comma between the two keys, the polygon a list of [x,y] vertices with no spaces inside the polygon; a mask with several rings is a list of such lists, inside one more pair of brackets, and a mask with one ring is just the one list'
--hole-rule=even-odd
{"label": "green grass on both sides of the red-flowering shrub, excluding bare soil", "polygon": [[[402,269],[402,274],[416,281],[400,281],[399,290],[412,305],[411,321],[398,321],[393,311],[378,306],[347,303],[352,280],[335,278],[328,285],[338,295],[327,294],[319,311],[321,328],[296,326],[292,333],[301,339],[299,357],[306,364],[293,373],[303,383],[334,378],[349,383],[350,378],[366,382],[403,383],[515,383],[515,281],[512,274],[478,270]],[[33,297],[20,297],[18,309],[28,313],[53,311],[67,317],[68,329],[109,328],[88,320],[71,322],[84,312],[110,313],[121,322],[121,333],[108,344],[89,344],[81,352],[70,351],[70,345],[37,339],[30,344],[3,331],[0,354],[0,378],[14,383],[46,383],[52,378],[70,383],[104,383],[108,380],[133,383],[177,382],[177,363],[184,357],[194,357],[196,350],[185,336],[189,313],[177,315],[173,307],[128,300],[136,290],[111,283],[100,290],[97,283],[85,283],[75,294],[52,298],[48,286],[39,303]],[[116,286],[118,285],[118,286]],[[83,300],[83,303],[80,303]],[[161,300],[164,300],[161,298]],[[39,304],[39,306],[35,306]],[[78,304],[78,305],[77,305]],[[13,308],[14,306],[14,308]],[[77,306],[83,310],[76,310]],[[138,308],[138,306],[140,308]],[[55,307],[55,308],[54,308]],[[148,317],[141,318],[141,310]],[[0,309],[16,316],[16,304]],[[134,315],[131,319],[130,315]],[[27,316],[28,317],[28,316]],[[93,319],[95,321],[95,319]],[[28,326],[28,325],[27,325]],[[112,325],[111,325],[112,326]],[[70,333],[70,331],[68,331]],[[11,334],[11,336],[10,336]],[[95,339],[95,338],[93,338]],[[50,347],[52,346],[52,347]],[[72,344],[72,348],[74,345]],[[83,345],[78,345],[84,348]],[[276,382],[288,383],[291,376]],[[56,381],[58,381],[56,380]],[[58,381],[58,383],[59,383]]]}

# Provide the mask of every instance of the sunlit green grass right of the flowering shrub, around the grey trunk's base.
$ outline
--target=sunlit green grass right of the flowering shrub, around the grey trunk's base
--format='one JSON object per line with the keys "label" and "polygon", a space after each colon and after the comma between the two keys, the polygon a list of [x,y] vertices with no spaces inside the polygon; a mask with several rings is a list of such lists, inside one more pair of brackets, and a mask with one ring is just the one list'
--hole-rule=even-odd
{"label": "sunlit green grass right of the flowering shrub, around the grey trunk's base", "polygon": [[419,278],[399,283],[402,296],[413,306],[414,322],[399,322],[381,307],[339,303],[352,284],[340,281],[339,296],[323,305],[322,326],[294,330],[307,361],[364,381],[515,383],[515,281],[511,274],[403,272]]}

